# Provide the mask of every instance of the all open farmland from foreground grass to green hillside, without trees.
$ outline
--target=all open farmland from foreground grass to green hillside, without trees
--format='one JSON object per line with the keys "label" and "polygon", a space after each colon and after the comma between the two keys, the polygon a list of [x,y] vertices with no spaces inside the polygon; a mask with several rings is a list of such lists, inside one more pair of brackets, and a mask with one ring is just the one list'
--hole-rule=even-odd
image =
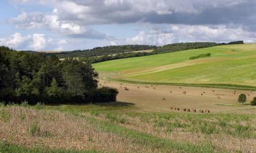
{"label": "all open farmland from foreground grass to green hillside, without trees", "polygon": [[[217,46],[94,64],[98,86],[117,88],[117,102],[0,102],[0,153],[255,152],[255,49]],[[246,103],[238,103],[242,93]]]}

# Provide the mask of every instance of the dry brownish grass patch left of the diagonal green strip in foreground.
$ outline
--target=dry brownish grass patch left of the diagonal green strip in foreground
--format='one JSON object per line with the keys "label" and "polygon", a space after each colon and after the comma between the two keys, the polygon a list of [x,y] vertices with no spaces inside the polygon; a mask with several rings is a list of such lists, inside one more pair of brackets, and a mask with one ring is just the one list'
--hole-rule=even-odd
{"label": "dry brownish grass patch left of the diagonal green strip in foreground", "polygon": [[[84,118],[51,110],[23,107],[0,108],[12,114],[8,122],[0,120],[0,139],[22,146],[100,150],[103,152],[152,152],[130,139],[98,131]],[[33,124],[38,130],[31,133]]]}

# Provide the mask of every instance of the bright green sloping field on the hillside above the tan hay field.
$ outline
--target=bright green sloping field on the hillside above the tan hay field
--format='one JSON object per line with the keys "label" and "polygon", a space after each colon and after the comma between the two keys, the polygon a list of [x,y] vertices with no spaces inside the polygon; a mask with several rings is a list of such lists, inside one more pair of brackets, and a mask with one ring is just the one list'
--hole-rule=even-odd
{"label": "bright green sloping field on the hillside above the tan hay field", "polygon": [[[210,57],[189,60],[210,53]],[[115,80],[167,84],[256,86],[256,44],[216,46],[96,63],[96,71],[120,73]],[[113,79],[112,78],[112,79]]]}

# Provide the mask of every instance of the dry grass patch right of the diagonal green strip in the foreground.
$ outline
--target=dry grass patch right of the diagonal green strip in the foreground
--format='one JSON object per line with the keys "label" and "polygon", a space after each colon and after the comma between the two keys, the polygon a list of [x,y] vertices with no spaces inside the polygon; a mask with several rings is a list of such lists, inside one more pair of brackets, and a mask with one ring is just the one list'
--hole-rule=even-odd
{"label": "dry grass patch right of the diagonal green strip in the foreground", "polygon": [[[117,117],[119,116],[119,117]],[[151,115],[150,117],[152,117]],[[225,115],[223,115],[225,116]],[[163,139],[171,139],[174,141],[178,141],[180,143],[191,143],[191,144],[203,144],[210,143],[217,150],[227,150],[228,152],[254,152],[256,150],[256,135],[246,136],[246,135],[236,135],[235,129],[233,126],[241,125],[248,126],[251,125],[252,133],[256,132],[256,120],[240,120],[236,122],[225,122],[225,124],[231,124],[231,126],[226,126],[227,131],[233,131],[233,133],[226,132],[212,132],[209,133],[207,131],[191,131],[193,126],[199,126],[199,124],[193,124],[188,121],[188,118],[184,118],[184,116],[179,116],[178,118],[162,118],[160,116],[156,117],[146,117],[139,114],[100,114],[97,116],[99,120],[112,120],[113,122],[117,122],[120,126],[124,126],[128,129],[132,129],[134,131],[141,131],[143,133],[149,133],[150,135],[154,135],[156,137],[161,137]],[[190,116],[193,117],[193,116]],[[119,119],[118,119],[119,118]],[[122,122],[119,122],[122,118]],[[180,118],[180,119],[179,119]],[[197,118],[197,116],[194,116]],[[198,119],[198,122],[210,122],[218,124],[218,126],[214,126],[215,129],[221,129],[221,120],[223,118],[219,118],[219,116],[213,116],[213,118],[203,118]],[[160,122],[158,122],[160,121]],[[162,122],[161,122],[162,121]],[[165,124],[163,123],[165,122]],[[169,127],[171,125],[171,129]],[[210,124],[205,125],[210,126]],[[241,131],[242,133],[242,131]]]}

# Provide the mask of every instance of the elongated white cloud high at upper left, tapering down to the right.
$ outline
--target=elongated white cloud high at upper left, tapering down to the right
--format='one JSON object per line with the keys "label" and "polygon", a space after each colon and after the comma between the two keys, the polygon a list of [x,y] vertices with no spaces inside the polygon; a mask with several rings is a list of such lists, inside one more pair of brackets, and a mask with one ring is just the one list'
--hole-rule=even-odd
{"label": "elongated white cloud high at upper left, tapering down to the right", "polygon": [[89,29],[86,26],[75,23],[72,20],[60,20],[54,9],[51,14],[42,12],[22,12],[16,18],[10,20],[18,29],[42,29],[47,28],[55,33],[69,37],[84,37],[91,39],[108,39],[109,35]]}

